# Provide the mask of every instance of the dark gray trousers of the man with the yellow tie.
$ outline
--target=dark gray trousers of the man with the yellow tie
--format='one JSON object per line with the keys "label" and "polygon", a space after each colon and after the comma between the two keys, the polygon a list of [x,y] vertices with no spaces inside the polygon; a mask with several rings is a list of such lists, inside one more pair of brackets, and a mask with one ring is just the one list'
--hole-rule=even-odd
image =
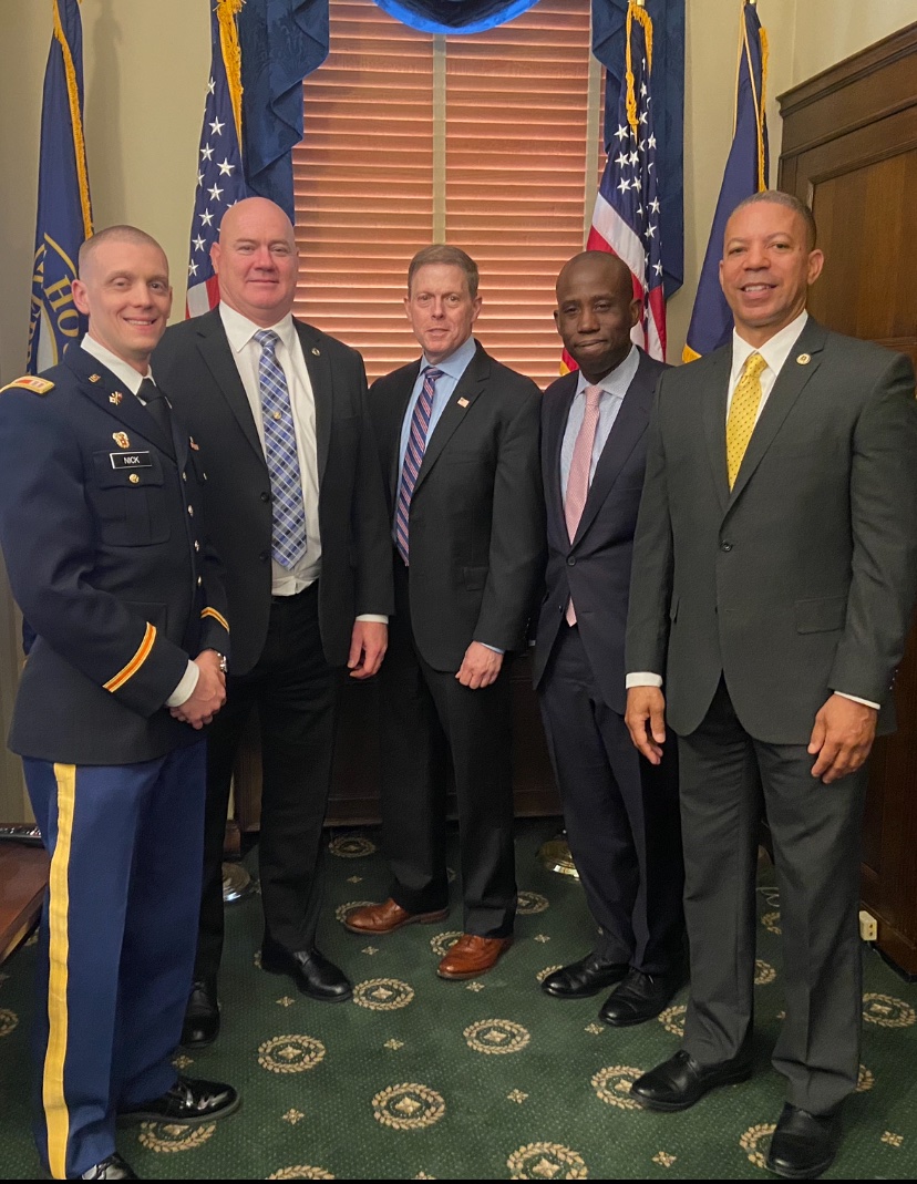
{"label": "dark gray trousers of the man with the yellow tie", "polygon": [[702,1064],[742,1054],[754,1012],[755,870],[761,806],[774,839],[787,1017],[774,1067],[813,1114],[857,1085],[861,967],[860,825],[866,770],[824,785],[803,745],[764,744],[721,681],[678,742],[691,999],[684,1047]]}

